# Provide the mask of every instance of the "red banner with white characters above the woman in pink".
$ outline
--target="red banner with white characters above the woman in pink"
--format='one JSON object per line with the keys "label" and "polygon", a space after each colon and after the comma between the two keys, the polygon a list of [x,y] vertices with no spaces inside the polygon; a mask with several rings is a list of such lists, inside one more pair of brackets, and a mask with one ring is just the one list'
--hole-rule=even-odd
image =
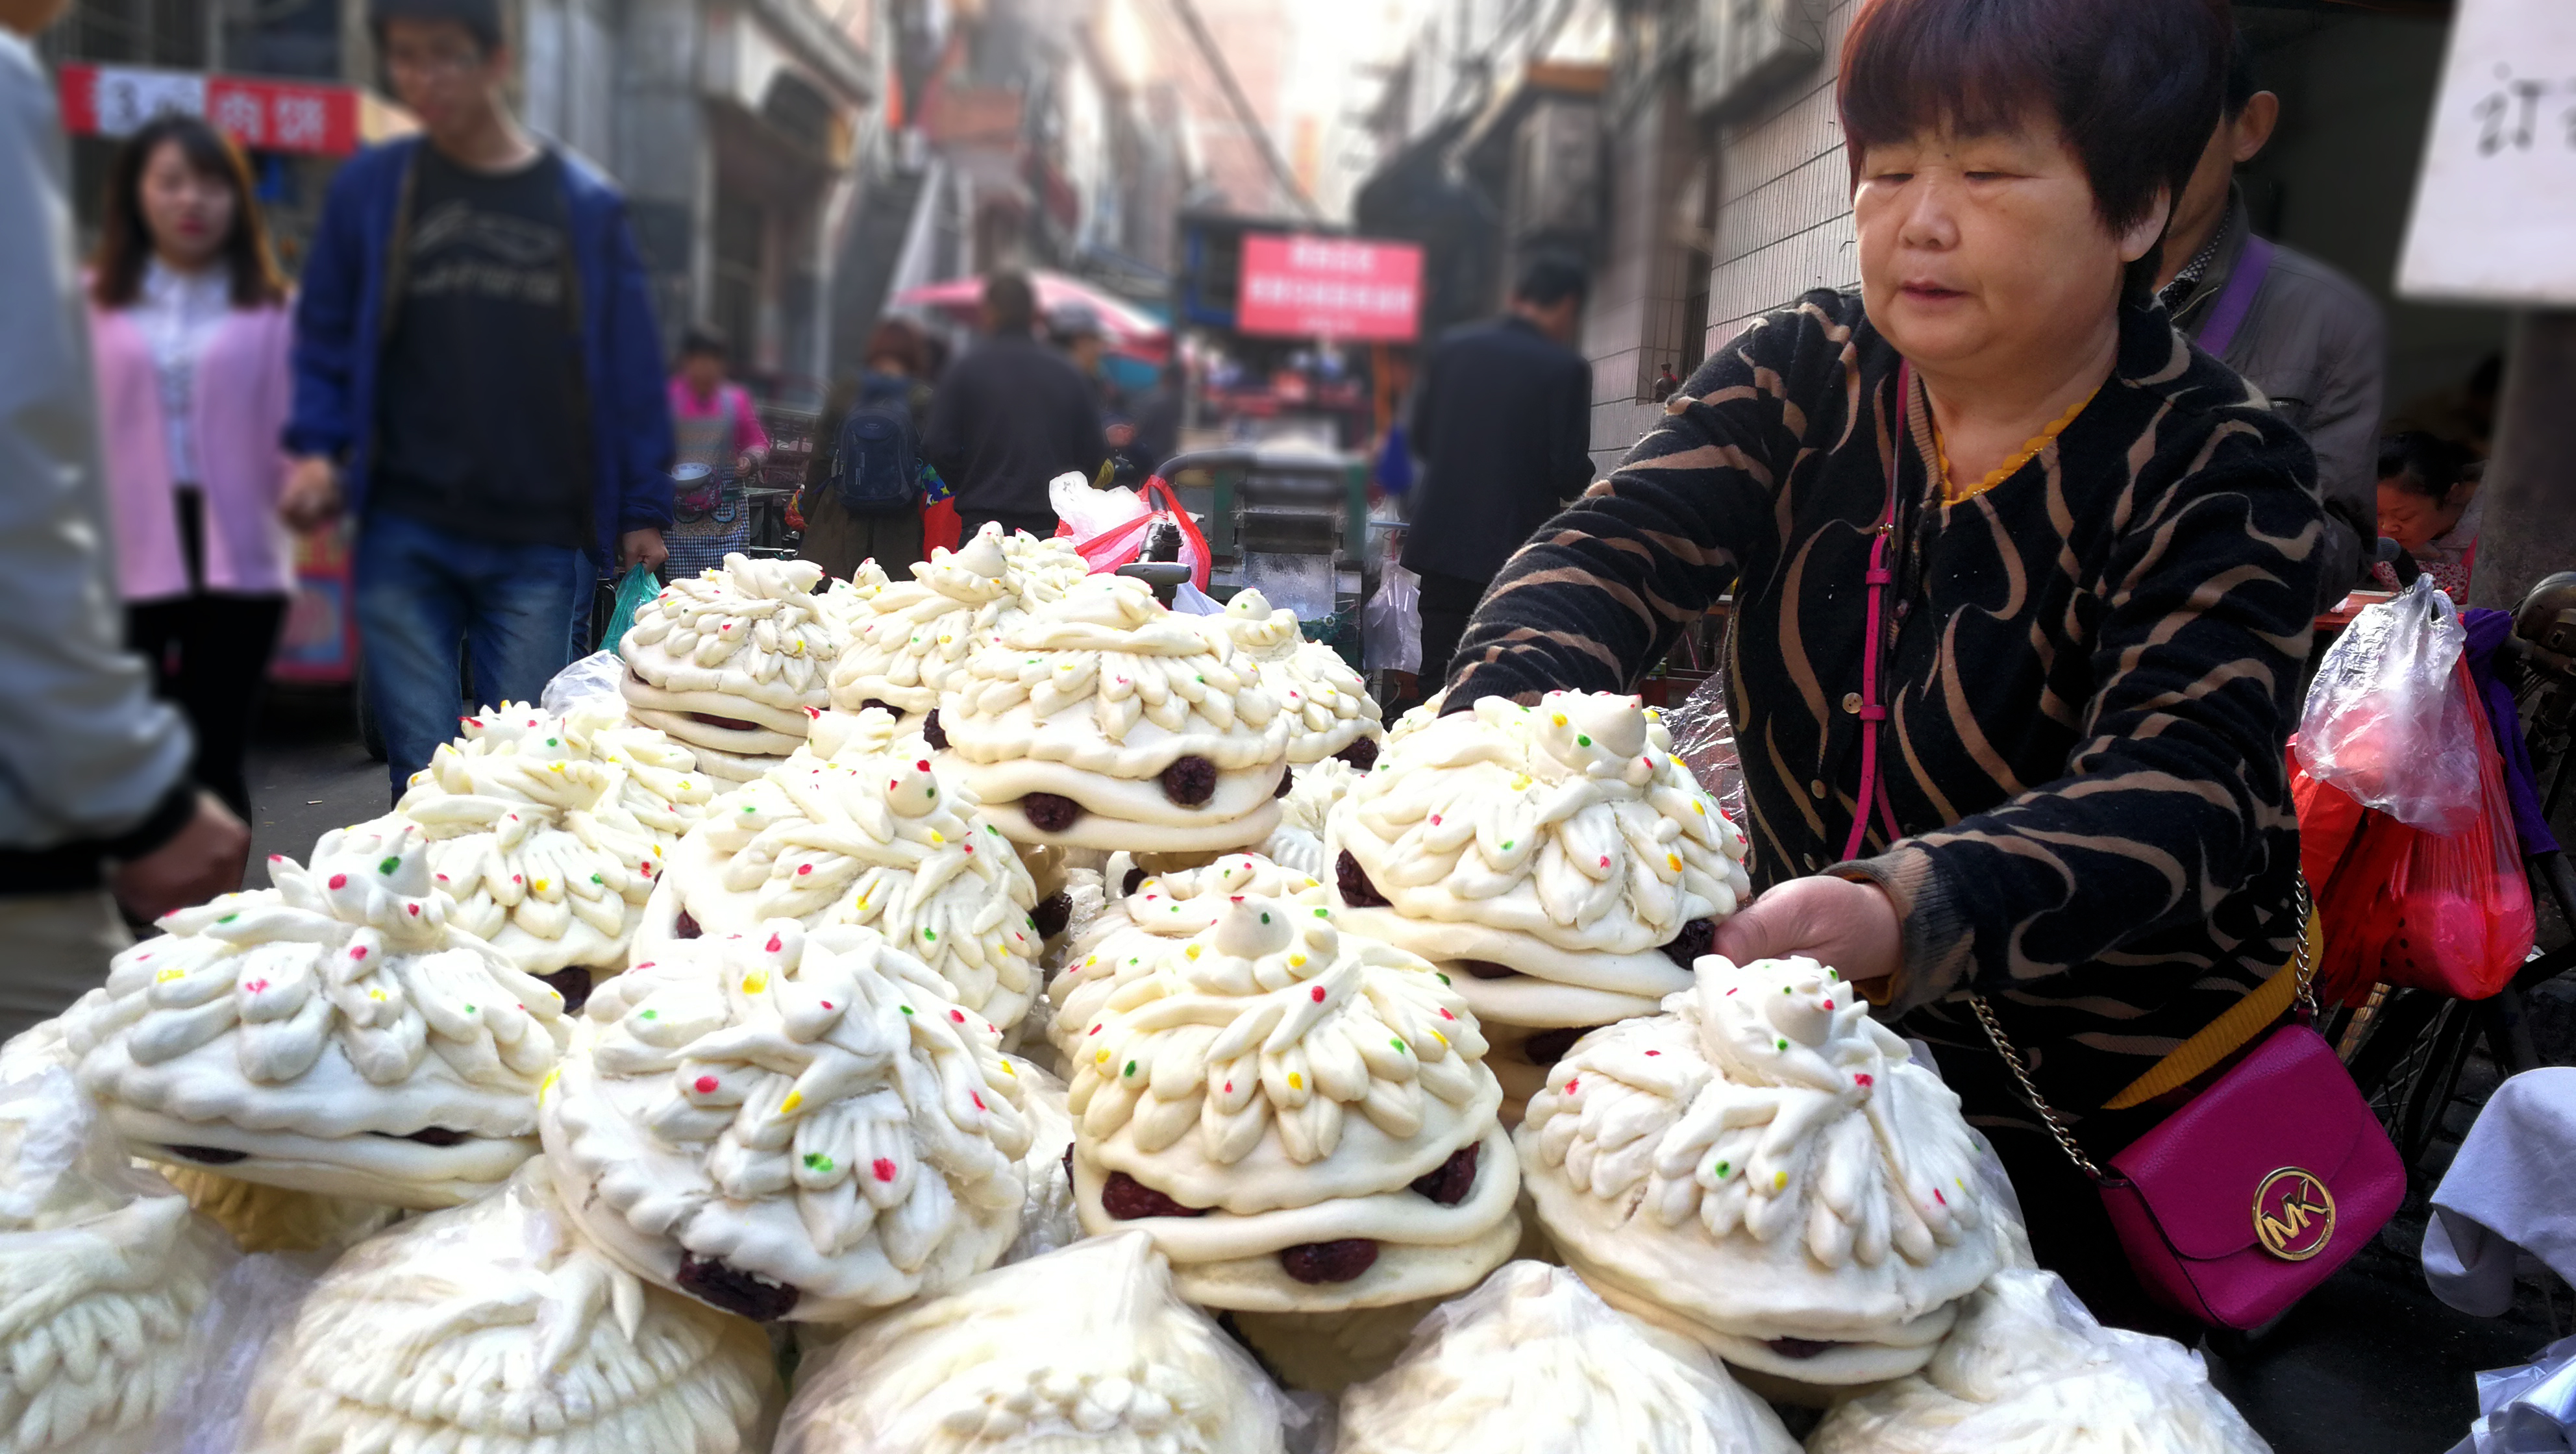
{"label": "red banner with white characters above the woman in pink", "polygon": [[358,149],[358,93],[345,85],[93,64],[62,67],[57,85],[62,129],[75,136],[131,136],[175,111],[204,116],[252,152],[345,157]]}

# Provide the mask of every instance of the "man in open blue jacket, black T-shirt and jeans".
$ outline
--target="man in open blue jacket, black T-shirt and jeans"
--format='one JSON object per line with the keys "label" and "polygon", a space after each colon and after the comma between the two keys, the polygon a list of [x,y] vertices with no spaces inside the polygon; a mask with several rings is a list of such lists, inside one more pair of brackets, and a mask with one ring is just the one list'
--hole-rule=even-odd
{"label": "man in open blue jacket, black T-shirt and jeans", "polygon": [[371,0],[420,139],[332,180],[296,301],[283,510],[358,517],[366,692],[394,795],[471,703],[536,700],[611,564],[672,517],[662,345],[626,203],[502,103],[500,0]]}

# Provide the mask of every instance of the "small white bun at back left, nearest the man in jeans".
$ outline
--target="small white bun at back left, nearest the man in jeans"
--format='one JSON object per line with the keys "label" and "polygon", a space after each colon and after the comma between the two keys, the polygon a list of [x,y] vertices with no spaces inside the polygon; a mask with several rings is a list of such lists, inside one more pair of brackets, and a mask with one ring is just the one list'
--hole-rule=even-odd
{"label": "small white bun at back left, nearest the man in jeans", "polygon": [[814,594],[822,566],[726,556],[721,571],[672,582],[636,610],[618,643],[626,710],[698,749],[698,769],[734,782],[804,741],[832,705],[845,636]]}

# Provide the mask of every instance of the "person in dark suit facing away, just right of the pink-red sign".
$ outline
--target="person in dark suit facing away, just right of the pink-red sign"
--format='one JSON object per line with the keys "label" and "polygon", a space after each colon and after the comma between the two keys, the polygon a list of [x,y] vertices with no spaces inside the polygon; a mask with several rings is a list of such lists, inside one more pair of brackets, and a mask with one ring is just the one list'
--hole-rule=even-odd
{"label": "person in dark suit facing away, just right of the pink-red sign", "polygon": [[1512,551],[1592,484],[1592,365],[1571,347],[1582,311],[1582,268],[1538,257],[1512,311],[1450,329],[1422,363],[1404,566],[1422,576],[1425,682],[1445,679]]}

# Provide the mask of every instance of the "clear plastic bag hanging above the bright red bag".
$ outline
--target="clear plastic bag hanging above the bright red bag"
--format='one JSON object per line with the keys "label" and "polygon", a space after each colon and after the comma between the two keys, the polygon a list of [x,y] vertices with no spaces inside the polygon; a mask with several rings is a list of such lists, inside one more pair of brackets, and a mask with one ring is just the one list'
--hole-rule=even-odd
{"label": "clear plastic bag hanging above the bright red bag", "polygon": [[2486,723],[2452,667],[2468,630],[2432,576],[2362,607],[2326,649],[2298,721],[2308,777],[2432,831],[2478,818],[2478,736]]}

